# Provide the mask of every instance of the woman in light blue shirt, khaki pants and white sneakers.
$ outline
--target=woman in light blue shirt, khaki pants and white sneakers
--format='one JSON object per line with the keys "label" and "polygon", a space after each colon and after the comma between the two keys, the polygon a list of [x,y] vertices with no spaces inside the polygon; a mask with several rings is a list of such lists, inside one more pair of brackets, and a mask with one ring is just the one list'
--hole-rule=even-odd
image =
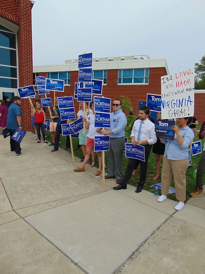
{"label": "woman in light blue shirt, khaki pants and white sneakers", "polygon": [[188,127],[190,120],[191,117],[177,118],[178,126],[172,126],[176,133],[174,140],[160,138],[166,147],[162,165],[162,195],[157,200],[158,202],[166,200],[173,175],[176,198],[179,201],[179,204],[174,207],[176,210],[184,207],[186,199],[185,174],[188,168],[188,147],[194,138],[193,131]]}

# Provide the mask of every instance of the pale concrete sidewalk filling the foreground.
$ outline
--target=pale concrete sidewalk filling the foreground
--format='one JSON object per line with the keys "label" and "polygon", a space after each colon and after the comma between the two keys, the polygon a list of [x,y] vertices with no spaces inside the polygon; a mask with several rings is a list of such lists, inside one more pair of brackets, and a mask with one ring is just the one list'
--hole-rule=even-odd
{"label": "pale concrete sidewalk filling the foreground", "polygon": [[181,211],[135,187],[114,191],[96,168],[38,144],[22,155],[0,135],[1,274],[205,273],[205,192]]}

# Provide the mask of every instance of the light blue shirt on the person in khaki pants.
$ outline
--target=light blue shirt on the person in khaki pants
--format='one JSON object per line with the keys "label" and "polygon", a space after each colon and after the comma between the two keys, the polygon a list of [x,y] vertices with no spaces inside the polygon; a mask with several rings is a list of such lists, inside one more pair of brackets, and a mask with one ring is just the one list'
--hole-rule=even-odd
{"label": "light blue shirt on the person in khaki pants", "polygon": [[169,160],[183,160],[188,159],[188,147],[194,139],[194,133],[188,126],[179,130],[184,143],[180,146],[177,135],[174,140],[164,139],[162,143],[166,144],[164,156]]}

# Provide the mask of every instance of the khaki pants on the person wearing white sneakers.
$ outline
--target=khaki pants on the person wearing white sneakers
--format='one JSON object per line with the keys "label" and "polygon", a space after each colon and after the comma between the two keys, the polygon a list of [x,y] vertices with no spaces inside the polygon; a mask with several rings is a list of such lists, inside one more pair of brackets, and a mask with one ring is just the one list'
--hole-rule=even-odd
{"label": "khaki pants on the person wearing white sneakers", "polygon": [[188,159],[169,160],[166,157],[163,159],[162,165],[162,194],[167,195],[174,176],[174,185],[176,190],[176,198],[178,201],[186,199],[186,170],[188,168]]}

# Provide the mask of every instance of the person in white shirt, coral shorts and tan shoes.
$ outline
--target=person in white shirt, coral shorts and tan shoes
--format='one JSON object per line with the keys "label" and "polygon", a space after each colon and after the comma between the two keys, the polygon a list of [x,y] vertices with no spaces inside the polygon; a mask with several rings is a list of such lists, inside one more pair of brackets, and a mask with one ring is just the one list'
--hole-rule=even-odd
{"label": "person in white shirt, coral shorts and tan shoes", "polygon": [[[90,155],[92,150],[94,149],[94,137],[102,135],[101,133],[97,133],[96,130],[97,128],[94,127],[95,123],[95,112],[94,112],[94,104],[93,102],[90,103],[90,107],[92,110],[92,113],[90,113],[87,117],[87,120],[83,118],[83,122],[85,122],[85,127],[88,129],[88,135],[87,135],[87,141],[86,141],[86,152],[85,152],[85,158],[82,163],[82,165],[74,171],[85,171],[85,165],[90,159]],[[98,154],[98,163],[99,163],[99,169],[96,172],[95,176],[100,176],[102,173],[102,156],[99,154],[99,151],[96,152]]]}

